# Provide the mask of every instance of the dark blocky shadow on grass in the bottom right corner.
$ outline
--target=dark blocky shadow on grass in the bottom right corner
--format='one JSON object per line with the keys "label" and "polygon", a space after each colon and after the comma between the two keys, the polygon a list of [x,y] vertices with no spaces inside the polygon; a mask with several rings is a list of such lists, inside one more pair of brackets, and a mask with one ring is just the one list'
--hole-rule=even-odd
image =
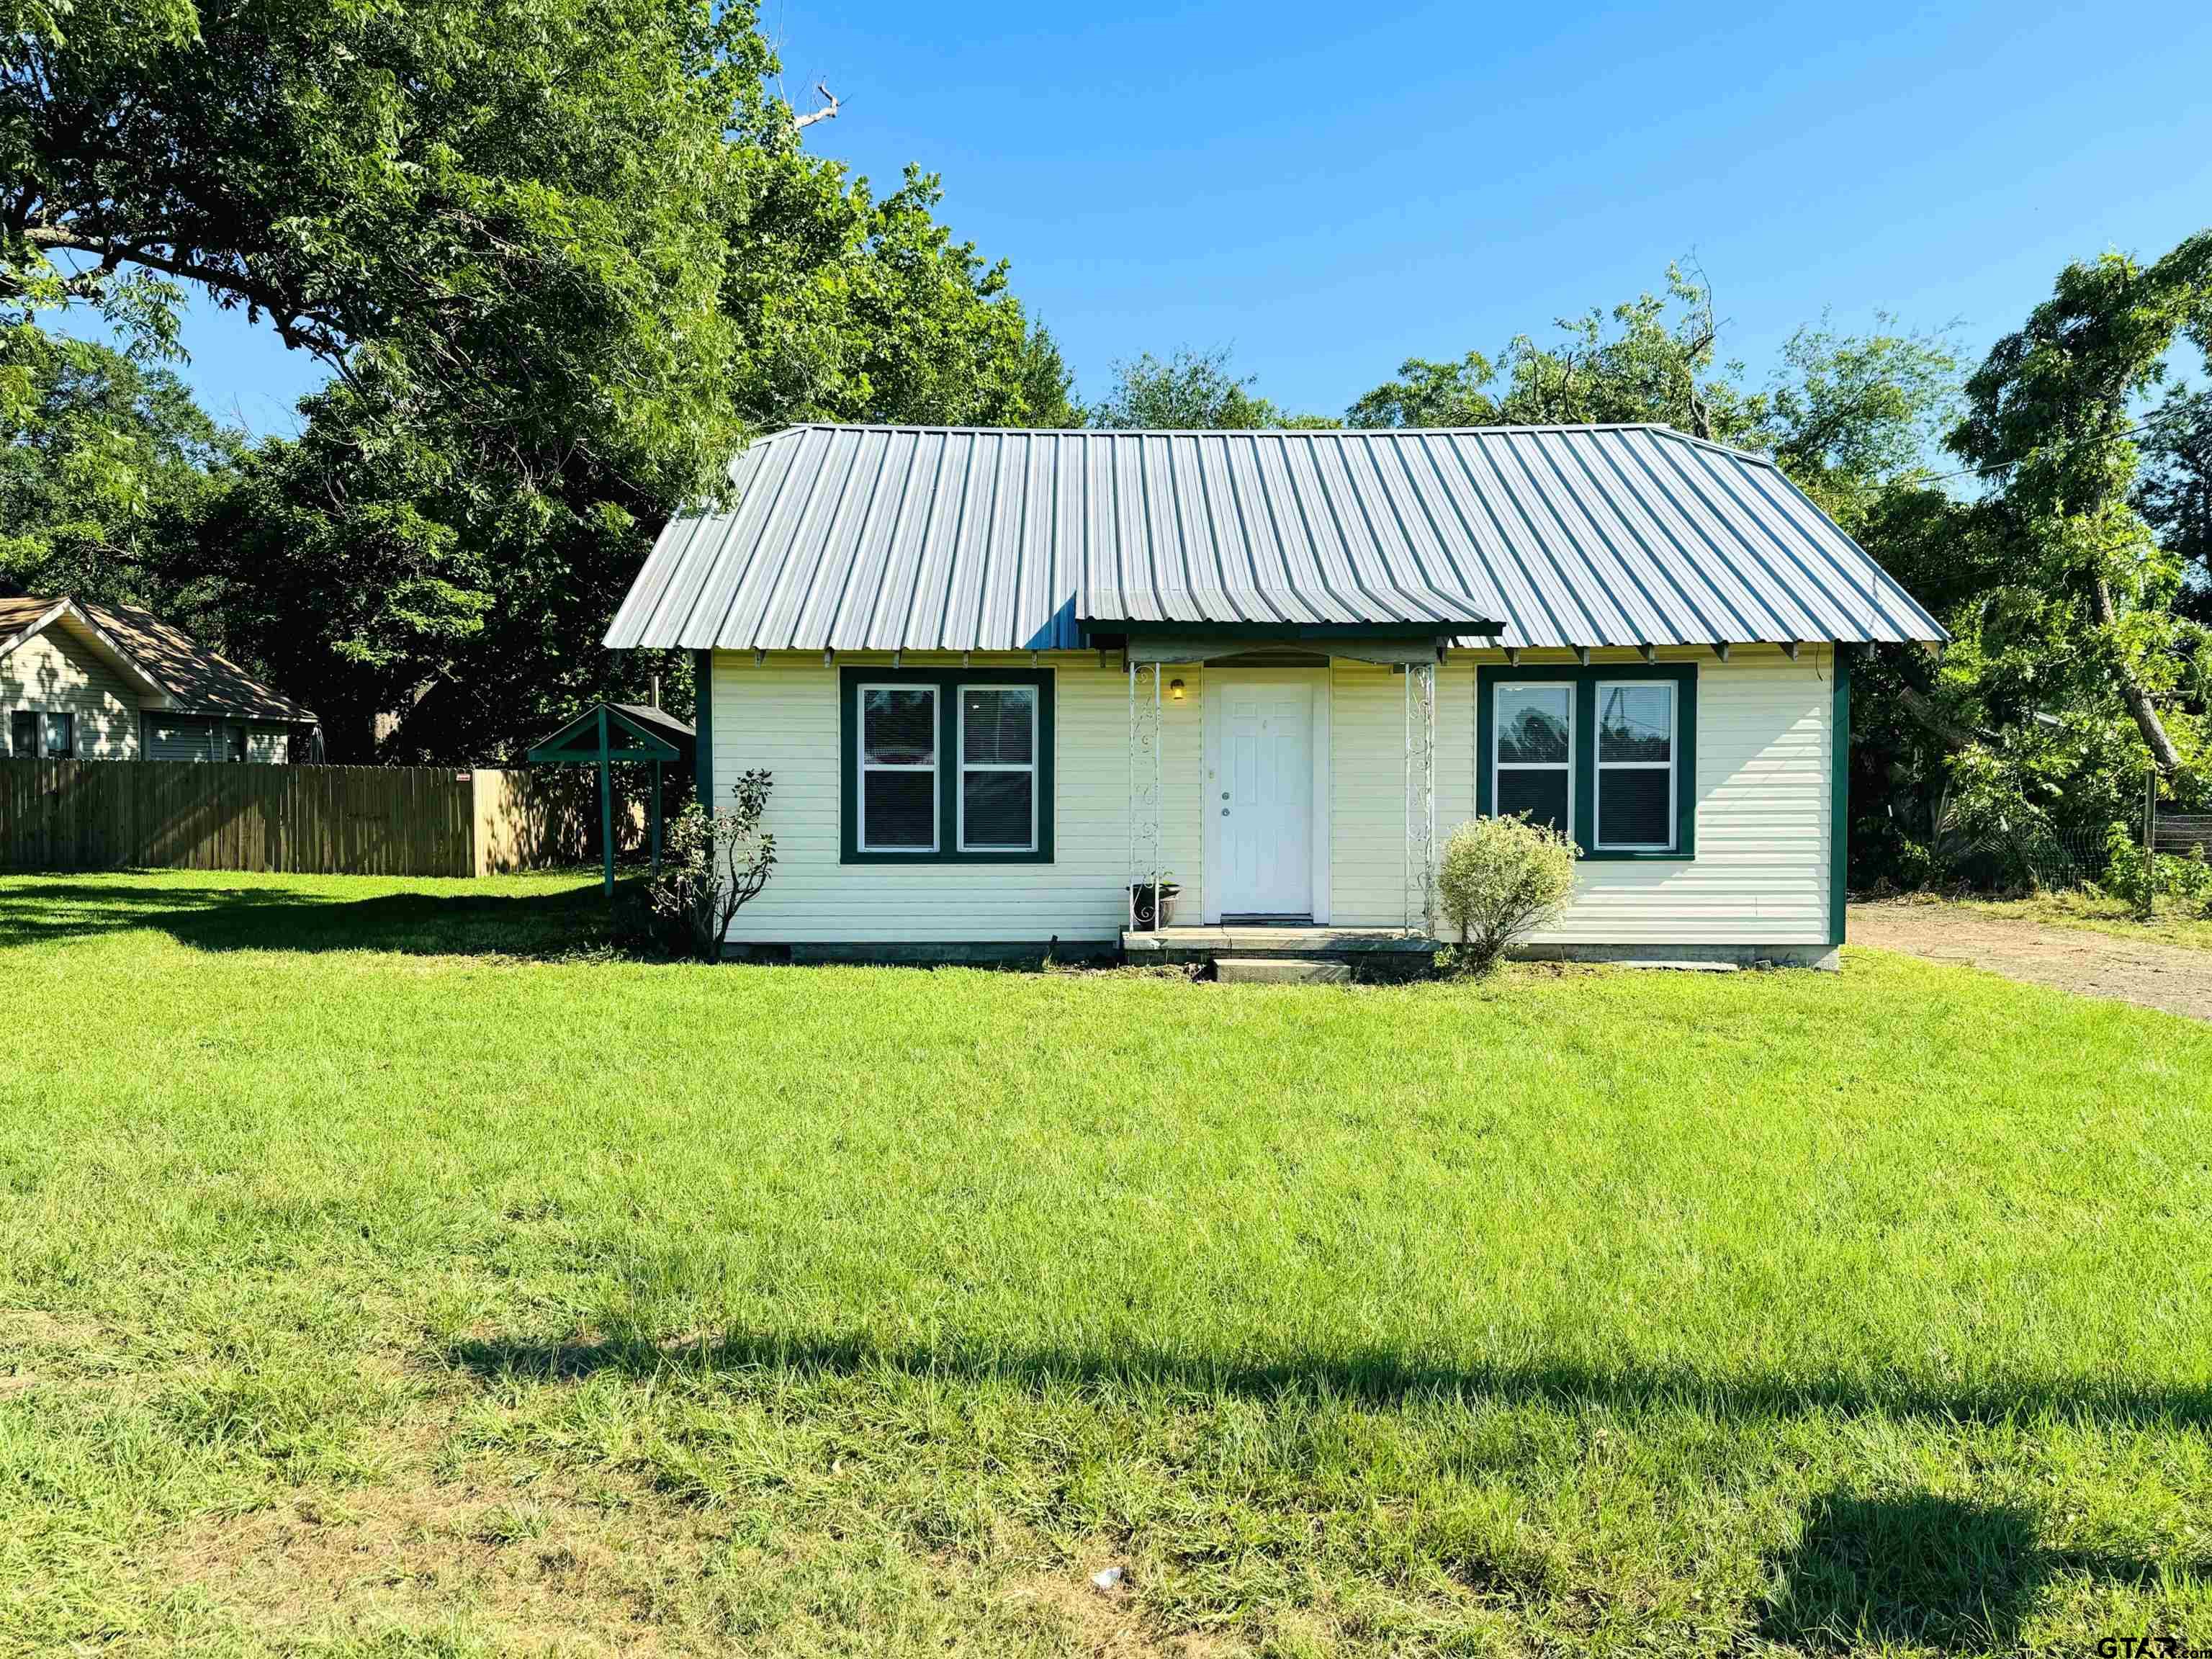
{"label": "dark blocky shadow on grass in the bottom right corner", "polygon": [[[1936,1652],[2015,1652],[2035,1593],[2059,1573],[2139,1586],[2159,1562],[2101,1551],[2053,1551],[2015,1504],[1933,1493],[1832,1493],[1774,1559],[1776,1588],[1761,1628],[1814,1652],[1874,1646]],[[2166,1562],[2201,1575],[2208,1562]]]}

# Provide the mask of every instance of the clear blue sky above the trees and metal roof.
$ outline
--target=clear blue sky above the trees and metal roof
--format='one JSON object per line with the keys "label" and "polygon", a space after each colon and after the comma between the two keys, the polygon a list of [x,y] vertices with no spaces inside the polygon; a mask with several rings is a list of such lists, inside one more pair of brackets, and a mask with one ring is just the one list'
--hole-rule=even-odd
{"label": "clear blue sky above the trees and metal roof", "polygon": [[[2212,7],[765,0],[810,148],[945,179],[945,219],[1060,336],[1232,345],[1340,411],[1405,356],[1491,352],[1703,261],[1765,378],[1834,307],[1980,354],[2068,259],[2212,223]],[[210,409],[292,427],[321,376],[201,307]]]}

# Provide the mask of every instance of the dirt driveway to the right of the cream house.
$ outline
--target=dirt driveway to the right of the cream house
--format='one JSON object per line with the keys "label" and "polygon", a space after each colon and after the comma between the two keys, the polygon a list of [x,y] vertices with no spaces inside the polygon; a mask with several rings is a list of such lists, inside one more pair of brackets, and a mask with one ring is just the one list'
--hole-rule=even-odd
{"label": "dirt driveway to the right of the cream house", "polygon": [[1851,905],[1851,945],[1971,962],[2008,980],[2212,1020],[2212,951],[1975,916],[1955,905]]}

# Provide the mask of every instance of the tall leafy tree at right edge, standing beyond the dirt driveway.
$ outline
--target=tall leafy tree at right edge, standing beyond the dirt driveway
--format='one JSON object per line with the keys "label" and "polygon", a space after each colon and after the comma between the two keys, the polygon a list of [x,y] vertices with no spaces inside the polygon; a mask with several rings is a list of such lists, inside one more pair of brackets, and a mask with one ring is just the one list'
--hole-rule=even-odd
{"label": "tall leafy tree at right edge, standing beyond the dirt driveway", "polygon": [[2132,403],[2163,380],[2183,330],[2212,336],[2212,230],[2148,265],[2073,263],[1966,380],[1951,434],[2017,518],[2017,580],[2064,606],[2068,648],[2110,677],[2166,774],[2201,752],[2203,721],[2181,692],[2201,695],[2212,653],[2205,630],[2174,615],[2179,560],[2132,502]]}

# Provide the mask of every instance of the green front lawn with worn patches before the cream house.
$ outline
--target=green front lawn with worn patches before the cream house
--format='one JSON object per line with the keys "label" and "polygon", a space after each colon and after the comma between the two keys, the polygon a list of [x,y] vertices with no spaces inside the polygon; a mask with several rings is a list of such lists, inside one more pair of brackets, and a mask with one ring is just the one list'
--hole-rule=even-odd
{"label": "green front lawn with worn patches before the cream house", "polygon": [[2212,1029],[597,914],[0,880],[0,1650],[2212,1641]]}

